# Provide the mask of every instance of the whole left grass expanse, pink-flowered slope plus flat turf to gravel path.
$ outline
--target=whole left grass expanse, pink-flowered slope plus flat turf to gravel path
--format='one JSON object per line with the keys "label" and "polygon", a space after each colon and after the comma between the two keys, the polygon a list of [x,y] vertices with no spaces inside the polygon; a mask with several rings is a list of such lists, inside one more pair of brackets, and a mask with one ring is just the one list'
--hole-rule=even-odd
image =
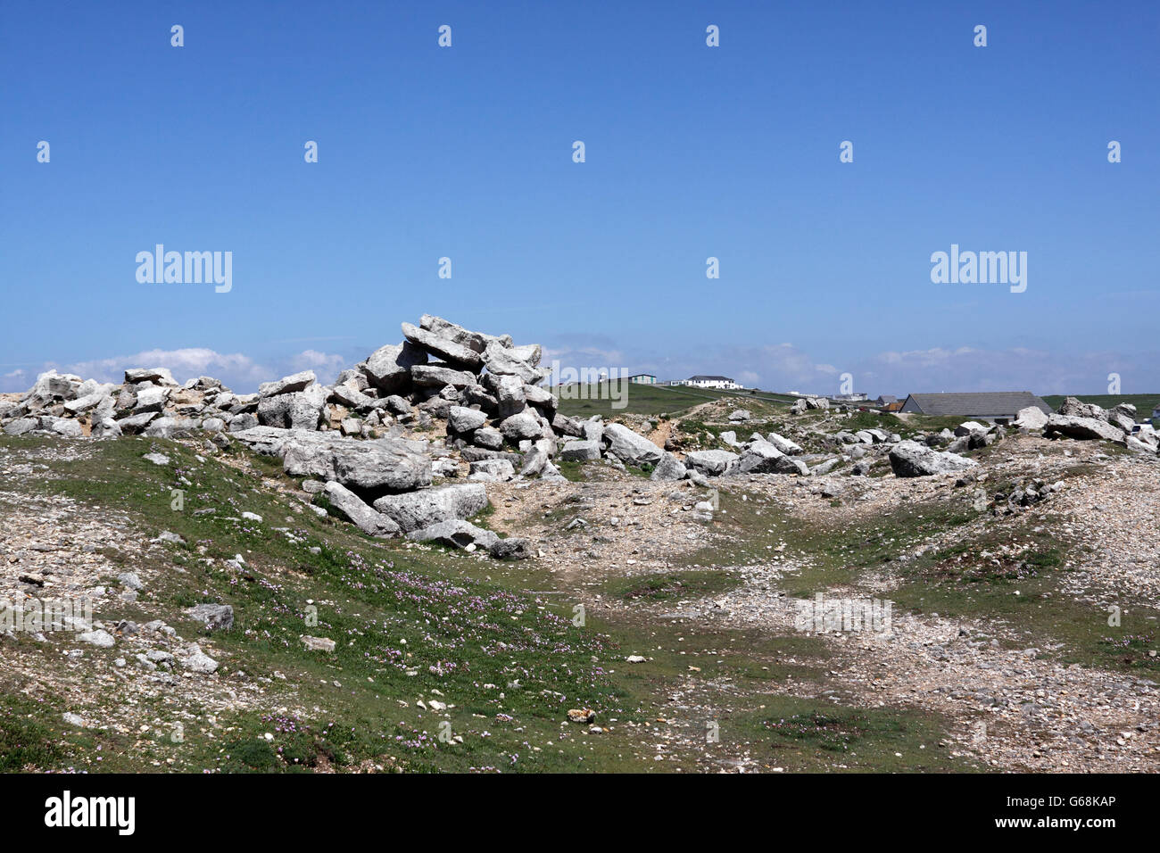
{"label": "whole left grass expanse, pink-flowered slope plus flat turf to gravel path", "polygon": [[[14,450],[52,443],[26,438],[0,441]],[[0,754],[7,764],[0,768],[260,773],[368,766],[406,772],[704,768],[696,751],[674,751],[675,760],[661,766],[652,760],[654,750],[645,735],[659,725],[658,715],[673,715],[670,696],[677,685],[703,691],[709,702],[728,703],[718,716],[734,746],[742,739],[764,738],[770,760],[778,766],[825,766],[773,754],[785,752],[774,747],[781,735],[757,725],[762,713],[786,707],[781,702],[790,700],[780,695],[785,685],[815,684],[815,693],[821,693],[827,650],[820,638],[727,629],[712,620],[674,622],[648,612],[679,598],[731,588],[737,583],[731,572],[675,571],[622,586],[614,581],[610,594],[629,601],[629,607],[589,613],[577,624],[572,597],[554,586],[552,572],[537,561],[501,564],[370,538],[349,523],[304,508],[292,491],[271,489],[292,490],[295,483],[276,463],[246,450],[231,453],[231,458],[245,463],[239,470],[215,457],[200,462],[194,450],[171,441],[126,438],[78,447],[80,458],[50,460],[51,476],[30,480],[27,487],[66,496],[94,513],[128,513],[140,535],[172,530],[187,543],[165,545],[145,565],[140,557],[106,551],[113,565],[104,580],[113,588],[115,574],[129,566],[144,570],[148,580],[137,602],[111,598],[96,617],[143,622],[160,609],[187,641],[203,642],[219,660],[215,680],[261,679],[263,692],[252,708],[225,713],[174,701],[164,693],[152,704],[143,697],[142,713],[151,729],[126,735],[100,728],[100,721],[116,716],[115,693],[101,694],[99,701],[107,706],[64,708],[57,700],[22,702],[26,685],[2,685]],[[157,467],[142,458],[154,450],[173,464]],[[171,507],[174,487],[186,492],[180,512]],[[722,499],[730,497],[723,493]],[[205,508],[216,512],[195,514]],[[242,512],[263,520],[242,521]],[[477,518],[486,520],[486,511]],[[126,532],[126,537],[137,536]],[[237,554],[245,558],[241,568],[226,562]],[[233,629],[205,637],[204,628],[181,613],[202,601],[231,605]],[[335,651],[307,652],[299,641],[304,634],[336,641]],[[36,665],[46,672],[74,677],[63,656],[46,655],[31,639],[6,645],[5,653],[39,656]],[[121,648],[85,651],[86,660],[102,662],[106,672],[123,653]],[[625,657],[633,653],[645,656],[646,663],[626,664]],[[722,681],[738,691],[724,696],[717,689]],[[428,709],[416,704],[420,699]],[[434,699],[448,709],[432,710]],[[832,710],[825,697],[793,701],[795,713]],[[586,727],[568,723],[567,709],[578,707],[593,708],[606,731],[589,735]],[[63,710],[75,710],[97,724],[73,730],[60,722]],[[927,717],[913,709],[849,713],[869,715],[862,744],[897,745],[905,737],[926,737]],[[731,716],[739,721],[735,727]],[[875,721],[882,720],[893,720],[904,733],[876,733]],[[177,723],[183,738],[173,740],[168,733]],[[909,749],[896,751],[916,754]],[[860,752],[880,752],[883,760],[889,759],[885,746],[878,752],[863,746]],[[915,767],[935,766],[921,758]]]}

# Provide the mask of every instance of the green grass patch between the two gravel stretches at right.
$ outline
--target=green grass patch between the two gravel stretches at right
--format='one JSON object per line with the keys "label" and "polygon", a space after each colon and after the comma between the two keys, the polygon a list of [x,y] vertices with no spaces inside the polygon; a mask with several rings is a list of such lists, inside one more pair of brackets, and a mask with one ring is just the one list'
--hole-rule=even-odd
{"label": "green grass patch between the two gravel stretches at right", "polygon": [[[1071,476],[1086,470],[1076,465]],[[993,483],[988,490],[1002,486]],[[973,522],[980,513],[971,508],[967,490],[904,504],[873,518],[829,523],[806,523],[761,496],[748,497],[741,500],[740,492],[723,491],[720,505],[727,512],[712,525],[730,533],[730,544],[708,545],[681,563],[768,562],[771,547],[784,541],[784,554],[800,568],[778,584],[793,598],[810,598],[832,586],[858,588],[867,574],[886,574],[898,581],[889,593],[896,612],[998,622],[1012,637],[1009,645],[1041,650],[1058,645],[1050,653],[1066,664],[1160,673],[1160,658],[1148,656],[1160,650],[1154,639],[1160,636],[1160,609],[1130,591],[1090,583],[1087,592],[1122,608],[1122,623],[1112,627],[1107,609],[1061,592],[1065,576],[1083,562],[1083,552],[1060,534],[1056,519],[988,518],[979,527]],[[915,557],[915,549],[935,535],[947,536],[951,544]],[[1017,552],[999,556],[1015,543]],[[900,559],[902,555],[907,559]]]}

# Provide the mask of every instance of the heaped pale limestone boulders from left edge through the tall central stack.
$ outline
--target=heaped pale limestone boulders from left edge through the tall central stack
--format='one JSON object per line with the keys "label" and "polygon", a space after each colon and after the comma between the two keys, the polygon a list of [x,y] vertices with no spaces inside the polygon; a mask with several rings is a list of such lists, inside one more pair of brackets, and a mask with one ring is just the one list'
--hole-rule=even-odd
{"label": "heaped pale limestone boulders from left edge through the tall central stack", "polygon": [[[311,370],[234,393],[201,376],[184,384],[164,368],[133,368],[119,385],[49,371],[26,393],[0,397],[8,435],[240,441],[277,455],[303,489],[375,536],[407,536],[499,557],[528,543],[467,521],[487,504],[486,483],[563,480],[559,460],[650,467],[680,479],[675,456],[619,424],[557,412],[541,383],[538,345],[515,346],[425,315],[404,340],[318,382]],[[464,470],[466,468],[466,471]],[[464,477],[467,483],[445,484]],[[436,478],[440,483],[436,484]]]}

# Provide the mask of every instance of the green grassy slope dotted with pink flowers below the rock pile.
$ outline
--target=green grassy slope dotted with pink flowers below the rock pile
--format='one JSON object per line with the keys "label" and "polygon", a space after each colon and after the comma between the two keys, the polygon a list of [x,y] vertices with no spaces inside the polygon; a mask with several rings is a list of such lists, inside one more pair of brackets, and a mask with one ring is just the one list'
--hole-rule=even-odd
{"label": "green grassy slope dotted with pink flowers below the rock pile", "polygon": [[[151,450],[165,453],[174,464],[159,468],[144,462],[140,457]],[[261,476],[271,474],[268,467],[260,469]],[[571,609],[563,603],[539,605],[503,585],[470,577],[464,570],[476,564],[462,556],[405,549],[400,542],[370,540],[350,525],[309,511],[295,513],[288,498],[255,489],[255,476],[216,460],[198,463],[173,442],[100,442],[92,446],[89,458],[59,463],[58,472],[61,478],[48,480],[48,489],[94,507],[130,511],[146,535],[168,529],[184,537],[186,547],[168,548],[157,566],[160,576],[143,598],[173,612],[195,600],[230,603],[233,630],[212,637],[222,653],[219,675],[235,671],[292,675],[303,707],[327,709],[325,716],[300,723],[312,727],[311,738],[334,721],[348,732],[342,749],[333,750],[335,756],[328,759],[335,764],[386,756],[412,771],[574,769],[589,758],[587,747],[568,742],[561,749],[531,752],[524,742],[554,740],[571,707],[592,707],[606,718],[631,718],[621,692],[595,663],[608,653],[607,636],[573,626]],[[193,486],[187,487],[184,509],[174,512],[169,490],[180,476]],[[203,507],[218,512],[194,515]],[[230,520],[241,511],[255,512],[263,521]],[[289,528],[291,535],[276,532],[277,527]],[[311,554],[311,547],[319,554]],[[224,564],[234,554],[245,556],[245,569]],[[206,558],[215,564],[208,565]],[[186,572],[173,571],[173,565]],[[498,571],[487,565],[487,573]],[[318,605],[317,626],[307,624],[307,600],[325,602]],[[117,601],[97,617],[145,615],[139,605]],[[187,639],[197,638],[197,623],[182,619],[171,623]],[[303,634],[331,637],[338,649],[333,655],[307,652],[298,641]],[[113,656],[115,650],[93,653]],[[516,680],[519,687],[506,689]],[[485,691],[484,684],[496,688]],[[438,742],[444,717],[414,706],[421,696],[430,699],[433,689],[458,706],[447,720],[464,744]],[[406,709],[398,704],[400,697],[406,697]],[[242,765],[271,769],[266,749],[253,742],[259,730],[269,730],[263,718],[280,703],[271,700],[269,708],[229,721],[245,732],[245,747],[239,747]],[[158,711],[166,715],[161,708]],[[498,714],[512,722],[498,723]],[[219,721],[219,728],[225,724]],[[314,749],[299,746],[298,752]],[[180,756],[175,768],[240,767],[235,750],[205,738],[196,725],[187,727],[184,744],[173,749]],[[515,764],[513,756],[519,756]],[[284,760],[282,766],[295,767]],[[615,757],[603,766],[625,767]]]}

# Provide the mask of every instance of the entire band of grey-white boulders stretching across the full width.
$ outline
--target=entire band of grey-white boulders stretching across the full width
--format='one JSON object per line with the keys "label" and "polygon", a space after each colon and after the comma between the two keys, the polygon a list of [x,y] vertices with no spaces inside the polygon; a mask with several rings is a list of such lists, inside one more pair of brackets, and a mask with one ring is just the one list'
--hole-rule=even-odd
{"label": "entire band of grey-white boulders stretching across the full width", "polygon": [[[316,503],[369,535],[426,537],[502,556],[530,549],[501,547],[498,536],[467,522],[487,506],[484,484],[531,477],[563,483],[558,463],[604,460],[643,469],[653,480],[698,484],[744,475],[807,477],[844,462],[853,462],[854,476],[889,461],[897,477],[922,477],[974,467],[960,454],[1007,434],[978,421],[906,441],[879,428],[842,429],[824,436],[835,456],[806,454],[777,433],[739,441],[728,431],[720,438],[730,450],[689,449],[681,458],[675,447],[659,447],[623,424],[559,413],[556,396],[539,384],[549,371],[539,367],[538,345],[516,346],[510,335],[430,315],[419,325],[403,323],[401,333],[399,344],[376,349],[332,385],[305,370],[248,395],[206,376],[179,385],[164,368],[125,370],[121,385],[49,371],[17,399],[0,400],[0,427],[8,435],[70,439],[197,438],[209,453],[240,441],[278,456],[288,475],[307,478],[303,489],[318,496]],[[790,412],[828,407],[824,398],[800,398]],[[751,419],[745,410],[728,414],[732,425]],[[1010,428],[1111,441],[1140,454],[1160,447],[1157,431],[1136,424],[1132,406],[1104,411],[1071,397],[1051,415],[1020,412]],[[459,477],[464,463],[470,484],[436,484]]]}

